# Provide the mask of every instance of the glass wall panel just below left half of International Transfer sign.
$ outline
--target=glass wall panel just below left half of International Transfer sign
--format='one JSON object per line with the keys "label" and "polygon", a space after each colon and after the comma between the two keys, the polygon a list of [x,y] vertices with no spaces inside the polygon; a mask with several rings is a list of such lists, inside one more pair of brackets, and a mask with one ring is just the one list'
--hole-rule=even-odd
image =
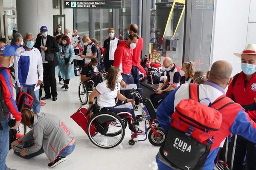
{"label": "glass wall panel just below left half of International Transfer sign", "polygon": [[[73,10],[74,17],[74,29],[78,30],[80,37],[84,34],[89,35],[89,9],[81,8]],[[70,30],[72,32],[73,30]]]}

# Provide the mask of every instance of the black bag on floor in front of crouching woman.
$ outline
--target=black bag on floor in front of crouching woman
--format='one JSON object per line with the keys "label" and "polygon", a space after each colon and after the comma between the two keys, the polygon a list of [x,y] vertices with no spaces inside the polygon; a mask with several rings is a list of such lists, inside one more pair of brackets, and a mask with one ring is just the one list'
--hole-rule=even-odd
{"label": "black bag on floor in front of crouching woman", "polygon": [[14,153],[15,153],[17,156],[20,156],[20,157],[25,158],[25,159],[30,159],[30,158],[33,158],[33,157],[35,157],[35,156],[40,155],[41,153],[44,153],[44,149],[43,149],[43,147],[41,147],[41,149],[38,150],[38,151],[35,152],[35,153],[31,153],[31,154],[26,155],[26,156],[21,156],[21,155],[20,155],[20,151],[21,151],[23,148],[33,146],[33,145],[34,145],[34,141],[35,141],[35,139],[34,139],[34,138],[31,138],[31,139],[27,140],[27,141],[24,142],[24,143],[18,144],[16,147],[13,148]]}

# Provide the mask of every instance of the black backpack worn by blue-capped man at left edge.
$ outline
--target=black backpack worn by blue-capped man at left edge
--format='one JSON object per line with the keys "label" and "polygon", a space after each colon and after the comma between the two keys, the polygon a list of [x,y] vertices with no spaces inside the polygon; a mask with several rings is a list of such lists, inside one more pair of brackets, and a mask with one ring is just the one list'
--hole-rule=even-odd
{"label": "black backpack worn by blue-capped man at left edge", "polygon": [[[0,71],[2,71],[3,69],[6,69],[6,68],[0,67]],[[9,112],[10,110],[4,101],[2,82],[0,81],[0,121],[5,120]],[[1,124],[0,124],[0,130],[2,130]]]}

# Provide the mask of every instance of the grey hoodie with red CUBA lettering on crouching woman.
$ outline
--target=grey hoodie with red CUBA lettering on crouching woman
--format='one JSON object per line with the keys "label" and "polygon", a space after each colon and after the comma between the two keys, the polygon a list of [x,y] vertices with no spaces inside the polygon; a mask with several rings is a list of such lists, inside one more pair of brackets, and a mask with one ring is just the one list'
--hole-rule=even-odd
{"label": "grey hoodie with red CUBA lettering on crouching woman", "polygon": [[35,153],[43,146],[48,159],[54,162],[59,153],[69,146],[74,138],[74,132],[58,117],[47,113],[37,113],[33,129],[18,141],[24,142],[32,137],[35,139],[35,144],[26,148],[26,153]]}

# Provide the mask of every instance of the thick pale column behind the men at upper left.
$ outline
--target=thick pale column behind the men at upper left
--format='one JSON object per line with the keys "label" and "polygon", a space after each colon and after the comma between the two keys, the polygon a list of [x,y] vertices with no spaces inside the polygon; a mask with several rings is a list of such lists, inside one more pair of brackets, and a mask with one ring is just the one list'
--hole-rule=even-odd
{"label": "thick pale column behind the men at upper left", "polygon": [[36,38],[41,26],[53,35],[52,0],[16,0],[18,32],[31,32]]}

